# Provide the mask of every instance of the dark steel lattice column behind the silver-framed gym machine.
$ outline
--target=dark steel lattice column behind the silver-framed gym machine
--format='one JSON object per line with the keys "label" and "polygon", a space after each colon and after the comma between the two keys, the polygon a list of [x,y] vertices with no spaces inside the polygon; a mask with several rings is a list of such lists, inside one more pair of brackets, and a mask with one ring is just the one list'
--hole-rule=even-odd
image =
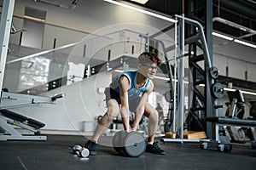
{"label": "dark steel lattice column behind the silver-framed gym machine", "polygon": [[[189,9],[186,11],[186,16],[188,18],[193,18],[194,20],[197,18],[196,16],[193,16],[196,11],[196,0],[189,0],[185,2],[186,7]],[[205,1],[205,20],[204,23],[201,23],[202,26],[204,26],[205,31],[205,37],[207,39],[207,48],[210,56],[210,61],[212,62],[212,0]],[[198,20],[200,21],[200,20]],[[187,32],[186,37],[193,37],[196,35],[195,26],[187,26]],[[196,111],[204,111],[203,117],[207,116],[215,116],[216,115],[216,109],[214,108],[215,99],[212,98],[211,95],[211,84],[208,82],[211,82],[210,79],[212,77],[209,76],[208,71],[210,69],[209,65],[207,65],[207,62],[204,62],[204,68],[201,68],[200,65],[198,65],[199,61],[205,60],[205,57],[203,55],[199,55],[196,52],[196,48],[201,48],[201,42],[196,40],[195,42],[189,42],[189,68],[192,74],[192,80],[190,82],[193,82],[193,97],[191,101],[191,111],[196,114]],[[199,89],[199,84],[205,84],[204,92],[202,93]],[[198,99],[200,99],[203,106],[198,104]],[[207,133],[207,136],[209,138],[212,137],[212,124],[209,122],[205,122],[204,125],[205,132]]]}

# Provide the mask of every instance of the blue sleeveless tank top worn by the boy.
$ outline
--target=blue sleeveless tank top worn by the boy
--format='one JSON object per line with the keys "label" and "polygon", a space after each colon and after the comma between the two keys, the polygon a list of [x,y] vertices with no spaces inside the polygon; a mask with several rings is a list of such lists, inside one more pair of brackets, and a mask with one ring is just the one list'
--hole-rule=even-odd
{"label": "blue sleeveless tank top worn by the boy", "polygon": [[147,78],[145,84],[142,88],[137,88],[136,79],[137,79],[137,71],[122,71],[116,77],[113,78],[113,81],[110,84],[110,88],[112,88],[115,92],[119,94],[119,79],[121,76],[125,75],[129,79],[130,88],[128,90],[128,98],[137,99],[140,97],[140,94],[148,90],[151,80]]}

